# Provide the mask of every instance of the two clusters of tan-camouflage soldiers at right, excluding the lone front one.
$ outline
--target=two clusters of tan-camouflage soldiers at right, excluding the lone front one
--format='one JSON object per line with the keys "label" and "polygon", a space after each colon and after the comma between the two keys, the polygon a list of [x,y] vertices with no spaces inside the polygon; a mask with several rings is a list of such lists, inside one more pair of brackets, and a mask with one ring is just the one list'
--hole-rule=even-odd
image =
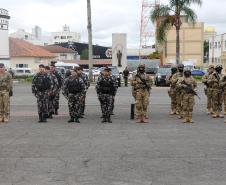
{"label": "two clusters of tan-camouflage soldiers at right, excluding the lone front one", "polygon": [[[214,67],[210,65],[208,74],[204,75],[202,82],[205,85],[207,96],[207,114],[213,118],[223,118],[221,114],[222,103],[225,103],[226,114],[226,76],[222,75],[222,65]],[[169,78],[171,98],[171,115],[178,115],[179,119],[184,118],[184,122],[193,123],[192,112],[195,105],[194,96],[197,95],[197,83],[192,78],[189,70],[184,70],[184,65],[179,64],[171,68]],[[226,120],[225,120],[226,122]]]}

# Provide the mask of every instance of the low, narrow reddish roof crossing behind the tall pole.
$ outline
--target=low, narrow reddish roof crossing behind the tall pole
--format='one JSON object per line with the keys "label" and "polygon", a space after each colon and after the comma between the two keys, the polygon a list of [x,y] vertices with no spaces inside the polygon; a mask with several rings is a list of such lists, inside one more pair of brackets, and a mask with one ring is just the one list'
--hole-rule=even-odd
{"label": "low, narrow reddish roof crossing behind the tall pole", "polygon": [[[75,63],[79,65],[88,65],[89,60],[63,60],[65,63]],[[94,65],[111,65],[112,60],[111,59],[93,59]]]}

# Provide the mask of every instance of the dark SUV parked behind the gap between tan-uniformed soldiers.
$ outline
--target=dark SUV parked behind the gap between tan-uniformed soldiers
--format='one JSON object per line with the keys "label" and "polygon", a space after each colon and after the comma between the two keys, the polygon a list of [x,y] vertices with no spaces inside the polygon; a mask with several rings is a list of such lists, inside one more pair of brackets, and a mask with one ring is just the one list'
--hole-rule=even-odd
{"label": "dark SUV parked behind the gap between tan-uniformed soldiers", "polygon": [[171,74],[170,67],[160,67],[155,75],[155,85],[156,86],[167,86],[167,78]]}

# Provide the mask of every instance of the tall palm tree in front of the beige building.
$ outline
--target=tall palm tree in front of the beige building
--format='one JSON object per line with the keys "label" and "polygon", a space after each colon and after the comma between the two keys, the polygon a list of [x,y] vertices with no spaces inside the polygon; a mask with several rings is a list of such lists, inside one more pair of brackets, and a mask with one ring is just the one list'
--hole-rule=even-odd
{"label": "tall palm tree in front of the beige building", "polygon": [[176,63],[180,63],[180,28],[181,17],[192,23],[196,22],[197,15],[190,8],[192,4],[201,6],[202,0],[169,0],[169,5],[156,6],[151,12],[151,20],[157,22],[156,40],[159,44],[166,41],[166,34],[172,27],[176,28]]}

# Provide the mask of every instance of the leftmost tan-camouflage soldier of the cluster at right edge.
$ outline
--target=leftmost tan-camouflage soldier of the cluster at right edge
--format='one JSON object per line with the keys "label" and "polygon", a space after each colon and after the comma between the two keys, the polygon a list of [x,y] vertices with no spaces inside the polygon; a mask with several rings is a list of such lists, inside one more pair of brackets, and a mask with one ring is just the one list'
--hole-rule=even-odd
{"label": "leftmost tan-camouflage soldier of the cluster at right edge", "polygon": [[213,90],[212,87],[208,84],[208,78],[213,72],[214,66],[210,65],[208,68],[208,74],[202,77],[202,83],[206,86],[204,88],[204,92],[207,97],[207,114],[213,113]]}

